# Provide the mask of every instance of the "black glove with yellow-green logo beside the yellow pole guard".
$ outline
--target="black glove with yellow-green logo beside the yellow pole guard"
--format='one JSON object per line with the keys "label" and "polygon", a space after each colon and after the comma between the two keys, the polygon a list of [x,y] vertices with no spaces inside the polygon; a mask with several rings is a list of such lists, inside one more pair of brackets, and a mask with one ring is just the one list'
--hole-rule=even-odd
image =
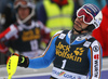
{"label": "black glove with yellow-green logo beside the yellow pole guard", "polygon": [[29,65],[29,58],[24,55],[19,55],[18,56],[18,66],[27,68],[28,65]]}

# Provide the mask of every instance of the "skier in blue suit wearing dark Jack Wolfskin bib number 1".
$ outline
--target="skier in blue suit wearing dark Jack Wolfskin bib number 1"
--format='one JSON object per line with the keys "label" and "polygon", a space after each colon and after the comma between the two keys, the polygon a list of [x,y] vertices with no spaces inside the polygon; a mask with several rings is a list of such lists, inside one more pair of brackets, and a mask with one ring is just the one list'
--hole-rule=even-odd
{"label": "skier in blue suit wearing dark Jack Wolfskin bib number 1", "polygon": [[99,27],[102,18],[102,11],[96,5],[84,4],[77,11],[73,28],[56,32],[42,56],[31,60],[12,55],[9,61],[18,58],[18,66],[36,69],[53,62],[50,79],[87,79],[87,74],[89,79],[100,79],[103,51],[91,32]]}

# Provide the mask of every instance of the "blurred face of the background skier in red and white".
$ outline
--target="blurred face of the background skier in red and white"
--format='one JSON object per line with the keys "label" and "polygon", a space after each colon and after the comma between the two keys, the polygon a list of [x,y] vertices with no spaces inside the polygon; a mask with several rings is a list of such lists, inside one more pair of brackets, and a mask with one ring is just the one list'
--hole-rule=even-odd
{"label": "blurred face of the background skier in red and white", "polygon": [[17,12],[18,12],[18,17],[21,19],[25,19],[29,15],[30,9],[19,6]]}

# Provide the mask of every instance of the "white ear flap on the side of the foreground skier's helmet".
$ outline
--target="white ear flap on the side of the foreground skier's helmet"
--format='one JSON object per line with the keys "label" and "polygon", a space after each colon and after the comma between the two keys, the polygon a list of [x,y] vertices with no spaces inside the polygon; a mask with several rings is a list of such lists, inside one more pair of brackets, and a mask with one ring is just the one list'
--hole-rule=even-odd
{"label": "white ear flap on the side of the foreground skier's helmet", "polygon": [[99,11],[99,13],[94,17],[93,25],[95,26],[95,28],[99,27],[102,19],[103,19],[103,13],[102,13],[102,11]]}

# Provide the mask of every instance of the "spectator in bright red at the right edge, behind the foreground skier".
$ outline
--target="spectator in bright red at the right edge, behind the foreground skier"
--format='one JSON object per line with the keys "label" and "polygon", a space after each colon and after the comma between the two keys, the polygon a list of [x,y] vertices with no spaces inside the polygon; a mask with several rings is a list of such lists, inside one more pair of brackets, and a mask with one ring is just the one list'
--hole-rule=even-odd
{"label": "spectator in bright red at the right edge, behind the foreground skier", "polygon": [[102,9],[103,21],[100,27],[93,31],[95,37],[102,44],[103,56],[108,56],[108,3]]}

